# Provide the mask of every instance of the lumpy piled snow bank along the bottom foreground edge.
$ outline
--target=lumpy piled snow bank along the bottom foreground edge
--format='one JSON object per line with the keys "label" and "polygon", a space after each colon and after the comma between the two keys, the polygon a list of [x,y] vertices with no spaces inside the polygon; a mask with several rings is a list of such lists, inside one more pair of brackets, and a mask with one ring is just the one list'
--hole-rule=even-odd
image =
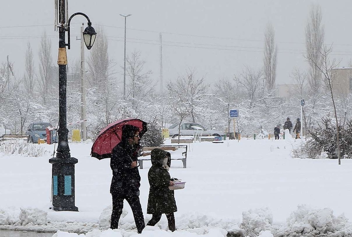
{"label": "lumpy piled snow bank along the bottom foreground edge", "polygon": [[[124,210],[119,229],[108,229],[110,226],[111,205],[104,208],[98,223],[73,221],[52,221],[48,212],[38,208],[0,209],[1,229],[28,231],[52,231],[54,237],[130,237],[137,235],[132,213]],[[352,224],[342,214],[333,215],[330,208],[313,209],[305,205],[298,206],[286,223],[275,224],[269,208],[250,209],[242,213],[241,223],[235,220],[224,220],[209,215],[194,213],[176,218],[177,231],[166,231],[167,221],[162,218],[156,226],[146,226],[142,235],[151,236],[237,236],[237,237],[351,237]],[[145,223],[149,216],[145,218]],[[69,233],[71,232],[71,233]],[[78,234],[80,233],[80,234]],[[85,233],[85,234],[84,234]]]}

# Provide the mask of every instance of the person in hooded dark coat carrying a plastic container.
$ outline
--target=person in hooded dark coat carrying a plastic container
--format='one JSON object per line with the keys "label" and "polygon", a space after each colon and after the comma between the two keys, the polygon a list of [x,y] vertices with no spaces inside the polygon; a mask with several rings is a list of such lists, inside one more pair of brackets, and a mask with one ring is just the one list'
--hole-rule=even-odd
{"label": "person in hooded dark coat carrying a plastic container", "polygon": [[155,148],[151,151],[152,166],[148,172],[149,180],[149,197],[147,214],[152,214],[152,218],[147,225],[154,226],[161,218],[161,214],[165,213],[168,219],[169,230],[175,231],[175,216],[177,211],[174,190],[170,190],[169,186],[174,183],[170,181],[168,168],[171,165],[171,156],[169,152]]}

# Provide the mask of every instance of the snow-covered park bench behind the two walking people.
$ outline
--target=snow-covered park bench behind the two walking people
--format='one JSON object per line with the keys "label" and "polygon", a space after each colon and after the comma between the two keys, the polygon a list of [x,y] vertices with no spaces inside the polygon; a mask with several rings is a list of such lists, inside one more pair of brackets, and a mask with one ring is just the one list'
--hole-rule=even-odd
{"label": "snow-covered park bench behind the two walking people", "polygon": [[187,145],[172,145],[172,146],[144,146],[142,156],[138,157],[138,164],[140,169],[143,169],[143,162],[145,160],[151,160],[150,152],[154,148],[159,148],[164,151],[170,152],[171,160],[182,160],[183,168],[186,168]]}

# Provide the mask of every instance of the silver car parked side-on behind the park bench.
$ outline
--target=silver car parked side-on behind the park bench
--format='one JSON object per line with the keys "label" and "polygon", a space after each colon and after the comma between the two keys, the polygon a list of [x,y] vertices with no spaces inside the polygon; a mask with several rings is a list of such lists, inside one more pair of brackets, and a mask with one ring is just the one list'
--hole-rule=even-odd
{"label": "silver car parked side-on behind the park bench", "polygon": [[[172,138],[178,136],[178,124],[174,123],[169,127],[169,133]],[[195,133],[202,133],[202,136],[224,136],[223,131],[206,129],[204,126],[199,123],[188,123],[182,122],[180,127],[180,135],[181,136],[193,136]]]}

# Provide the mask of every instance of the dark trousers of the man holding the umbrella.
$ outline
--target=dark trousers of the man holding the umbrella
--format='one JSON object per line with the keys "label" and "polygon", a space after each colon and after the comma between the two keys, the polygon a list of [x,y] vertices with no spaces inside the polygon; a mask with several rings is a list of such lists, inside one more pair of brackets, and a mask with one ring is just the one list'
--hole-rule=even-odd
{"label": "dark trousers of the man holding the umbrella", "polygon": [[124,208],[124,199],[130,204],[134,222],[136,223],[138,233],[142,233],[145,227],[142,206],[140,205],[139,196],[136,193],[128,194],[111,194],[112,195],[112,214],[111,229],[118,229],[122,209]]}

